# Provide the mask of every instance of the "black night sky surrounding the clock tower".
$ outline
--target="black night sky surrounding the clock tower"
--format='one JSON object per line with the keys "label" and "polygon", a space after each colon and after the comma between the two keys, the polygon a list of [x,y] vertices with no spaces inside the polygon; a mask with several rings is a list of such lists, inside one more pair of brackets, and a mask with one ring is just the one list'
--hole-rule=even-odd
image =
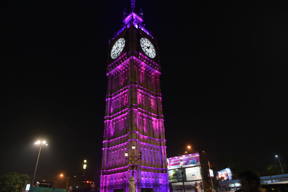
{"label": "black night sky surrounding the clock tower", "polygon": [[[137,0],[158,37],[167,156],[242,156],[261,172],[287,155],[288,12],[280,1]],[[283,1],[282,1],[283,2]],[[109,38],[125,1],[1,1],[0,173],[65,188],[100,181]],[[203,156],[204,157],[204,156]],[[207,160],[207,161],[206,161]],[[204,162],[205,161],[205,162]],[[225,165],[221,165],[225,166]],[[75,182],[76,183],[76,182]]]}

